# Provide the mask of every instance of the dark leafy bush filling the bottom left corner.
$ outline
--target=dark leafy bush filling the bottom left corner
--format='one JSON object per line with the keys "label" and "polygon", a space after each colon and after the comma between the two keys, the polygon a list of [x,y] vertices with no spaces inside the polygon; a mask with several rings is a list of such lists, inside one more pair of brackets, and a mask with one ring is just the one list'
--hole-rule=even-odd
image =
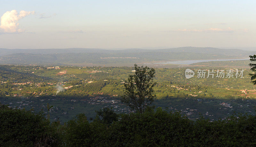
{"label": "dark leafy bush filling the bottom left corner", "polygon": [[42,113],[0,106],[0,146],[50,146],[57,141]]}

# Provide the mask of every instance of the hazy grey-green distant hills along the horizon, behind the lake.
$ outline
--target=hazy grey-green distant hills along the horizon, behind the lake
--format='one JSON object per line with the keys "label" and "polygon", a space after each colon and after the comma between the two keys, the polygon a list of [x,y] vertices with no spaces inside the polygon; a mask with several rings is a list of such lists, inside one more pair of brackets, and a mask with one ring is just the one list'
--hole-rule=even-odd
{"label": "hazy grey-green distant hills along the horizon, behind the lake", "polygon": [[220,49],[213,47],[179,47],[168,49],[97,48],[67,49],[0,49],[0,64],[62,64],[105,65],[148,63],[172,60],[246,59],[254,51]]}

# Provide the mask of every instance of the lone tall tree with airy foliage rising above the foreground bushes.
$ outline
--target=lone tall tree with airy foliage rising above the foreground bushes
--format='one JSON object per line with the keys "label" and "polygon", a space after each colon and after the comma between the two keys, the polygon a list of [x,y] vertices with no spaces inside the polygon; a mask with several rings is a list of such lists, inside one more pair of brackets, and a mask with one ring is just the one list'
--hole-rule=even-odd
{"label": "lone tall tree with airy foliage rising above the foreground bushes", "polygon": [[129,75],[124,83],[124,97],[121,99],[127,106],[136,112],[143,113],[145,108],[154,101],[153,87],[156,82],[155,69],[149,67],[138,67],[134,64],[135,74]]}

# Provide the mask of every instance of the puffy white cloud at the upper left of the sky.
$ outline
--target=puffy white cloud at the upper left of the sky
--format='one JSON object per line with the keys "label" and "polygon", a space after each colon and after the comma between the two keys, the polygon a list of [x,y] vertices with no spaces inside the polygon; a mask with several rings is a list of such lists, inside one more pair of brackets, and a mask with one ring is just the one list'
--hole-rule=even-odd
{"label": "puffy white cloud at the upper left of the sky", "polygon": [[1,17],[0,29],[6,33],[22,32],[22,30],[19,29],[18,21],[29,14],[35,14],[35,11],[21,10],[19,14],[17,10],[5,12]]}

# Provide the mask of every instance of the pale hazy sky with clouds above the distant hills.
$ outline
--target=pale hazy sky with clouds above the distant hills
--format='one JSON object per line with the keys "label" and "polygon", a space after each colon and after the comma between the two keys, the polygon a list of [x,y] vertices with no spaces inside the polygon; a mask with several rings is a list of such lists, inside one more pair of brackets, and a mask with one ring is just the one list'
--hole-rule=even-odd
{"label": "pale hazy sky with clouds above the distant hills", "polygon": [[256,1],[1,0],[0,48],[255,47]]}

